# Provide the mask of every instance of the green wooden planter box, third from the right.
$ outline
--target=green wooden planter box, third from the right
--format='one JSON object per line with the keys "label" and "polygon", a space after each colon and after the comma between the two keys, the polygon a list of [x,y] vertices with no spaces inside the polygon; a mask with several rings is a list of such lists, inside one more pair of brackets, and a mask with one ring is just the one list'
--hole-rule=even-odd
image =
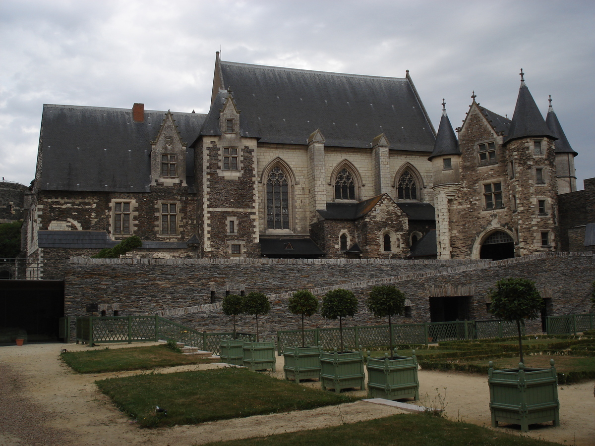
{"label": "green wooden planter box, third from the right", "polygon": [[322,390],[359,387],[365,389],[364,384],[364,356],[361,351],[346,351],[338,353],[322,351],[320,354],[320,384]]}

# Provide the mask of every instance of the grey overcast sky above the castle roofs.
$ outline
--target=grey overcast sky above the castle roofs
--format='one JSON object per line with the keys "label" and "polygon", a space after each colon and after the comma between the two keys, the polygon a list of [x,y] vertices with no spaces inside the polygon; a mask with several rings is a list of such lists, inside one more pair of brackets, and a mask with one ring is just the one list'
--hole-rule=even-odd
{"label": "grey overcast sky above the castle roofs", "polygon": [[471,103],[512,117],[519,71],[547,96],[577,186],[595,177],[593,1],[0,0],[0,175],[35,177],[44,103],[206,113],[226,61],[405,77],[434,127]]}

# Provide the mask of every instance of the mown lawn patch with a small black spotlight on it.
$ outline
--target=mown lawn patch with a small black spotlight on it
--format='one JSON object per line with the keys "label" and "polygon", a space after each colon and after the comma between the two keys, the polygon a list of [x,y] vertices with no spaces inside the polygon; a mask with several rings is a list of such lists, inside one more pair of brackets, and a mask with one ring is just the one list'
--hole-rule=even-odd
{"label": "mown lawn patch with a small black spotlight on it", "polygon": [[[104,379],[96,384],[123,412],[146,428],[314,409],[358,400],[239,368],[151,373]],[[156,416],[155,406],[167,409],[167,416]]]}

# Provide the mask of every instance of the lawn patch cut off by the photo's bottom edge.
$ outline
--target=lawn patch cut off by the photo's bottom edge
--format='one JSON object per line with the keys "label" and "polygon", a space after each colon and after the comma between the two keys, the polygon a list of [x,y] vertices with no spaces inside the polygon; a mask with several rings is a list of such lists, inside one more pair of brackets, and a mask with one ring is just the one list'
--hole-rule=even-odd
{"label": "lawn patch cut off by the photo's bottom edge", "polygon": [[226,446],[314,446],[321,444],[348,444],[350,446],[392,446],[395,444],[415,444],[416,446],[559,446],[558,443],[494,432],[481,426],[453,422],[425,414],[399,414],[314,431],[208,443],[211,446],[215,444]]}

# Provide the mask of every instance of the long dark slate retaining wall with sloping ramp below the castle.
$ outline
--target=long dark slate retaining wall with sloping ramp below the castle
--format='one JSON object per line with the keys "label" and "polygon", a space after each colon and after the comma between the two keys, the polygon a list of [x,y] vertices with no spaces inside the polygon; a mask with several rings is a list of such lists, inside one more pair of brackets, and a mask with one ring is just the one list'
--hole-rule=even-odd
{"label": "long dark slate retaining wall with sloping ramp below the castle", "polygon": [[[126,263],[128,262],[128,263]],[[330,288],[353,290],[359,311],[347,318],[348,325],[386,323],[365,308],[365,297],[374,284],[392,282],[411,301],[411,318],[393,318],[395,323],[429,322],[428,286],[473,287],[469,318],[488,319],[486,293],[506,277],[531,278],[540,290],[551,294],[548,315],[593,312],[591,282],[595,277],[592,253],[543,253],[516,259],[484,260],[181,260],[142,259],[131,264],[119,259],[71,259],[65,272],[65,314],[84,316],[86,303],[120,306],[120,315],[155,314],[201,331],[231,329],[231,318],[220,309],[229,284],[232,293],[246,291],[270,294],[271,312],[259,316],[261,332],[273,337],[277,330],[298,329],[299,316],[287,311],[287,297],[295,290],[315,289],[322,296]],[[211,285],[217,302],[210,304]],[[111,313],[111,311],[108,311]],[[320,315],[306,318],[306,328],[338,326]],[[255,331],[253,316],[236,318],[237,329]],[[540,321],[528,325],[540,331]]]}

